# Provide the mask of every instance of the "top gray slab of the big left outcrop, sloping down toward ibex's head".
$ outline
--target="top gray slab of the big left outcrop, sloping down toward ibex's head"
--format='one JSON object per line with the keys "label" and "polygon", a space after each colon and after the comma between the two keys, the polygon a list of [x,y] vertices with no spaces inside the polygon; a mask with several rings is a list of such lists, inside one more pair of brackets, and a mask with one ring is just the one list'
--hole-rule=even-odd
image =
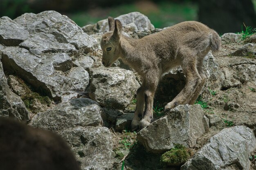
{"label": "top gray slab of the big left outcrop, sloping down toward ibex's head", "polygon": [[[25,13],[14,21],[24,26],[32,35],[43,33],[46,40],[51,40],[50,38],[54,35],[57,42],[71,44],[76,49],[83,49],[85,52],[92,51],[98,46],[94,38],[84,33],[70,18],[56,11],[43,11],[38,14]],[[28,41],[33,42],[33,40],[35,38]]]}

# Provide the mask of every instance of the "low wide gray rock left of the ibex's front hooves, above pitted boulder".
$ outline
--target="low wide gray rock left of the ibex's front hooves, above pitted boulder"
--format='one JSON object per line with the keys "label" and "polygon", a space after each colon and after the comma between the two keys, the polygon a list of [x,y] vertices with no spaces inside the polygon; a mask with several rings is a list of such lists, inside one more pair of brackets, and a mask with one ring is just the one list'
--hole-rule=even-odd
{"label": "low wide gray rock left of the ibex's front hooves, above pitted boulder", "polygon": [[102,123],[101,107],[87,98],[63,102],[31,120],[32,126],[57,132],[76,126],[101,126]]}

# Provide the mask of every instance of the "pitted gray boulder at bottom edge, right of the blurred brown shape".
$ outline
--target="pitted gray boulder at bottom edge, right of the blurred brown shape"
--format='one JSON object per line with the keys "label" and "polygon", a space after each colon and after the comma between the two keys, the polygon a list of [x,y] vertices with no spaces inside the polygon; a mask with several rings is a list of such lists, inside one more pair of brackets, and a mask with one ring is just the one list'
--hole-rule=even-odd
{"label": "pitted gray boulder at bottom edge, right of the blurred brown shape", "polygon": [[110,170],[114,163],[115,153],[112,151],[112,138],[106,127],[75,127],[60,132],[82,170]]}

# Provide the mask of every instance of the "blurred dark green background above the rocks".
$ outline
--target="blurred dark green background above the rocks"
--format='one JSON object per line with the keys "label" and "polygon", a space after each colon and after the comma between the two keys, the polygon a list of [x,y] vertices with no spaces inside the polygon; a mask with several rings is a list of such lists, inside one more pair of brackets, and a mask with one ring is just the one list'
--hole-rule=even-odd
{"label": "blurred dark green background above the rocks", "polygon": [[255,8],[256,0],[0,0],[0,17],[14,19],[26,12],[55,10],[85,26],[139,11],[156,28],[197,20],[222,34],[241,32],[243,23],[255,28]]}

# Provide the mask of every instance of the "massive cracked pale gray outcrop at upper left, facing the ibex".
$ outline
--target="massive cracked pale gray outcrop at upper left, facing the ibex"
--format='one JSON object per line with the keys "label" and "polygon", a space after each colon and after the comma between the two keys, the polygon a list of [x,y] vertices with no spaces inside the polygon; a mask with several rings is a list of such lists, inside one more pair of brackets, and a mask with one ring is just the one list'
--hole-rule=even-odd
{"label": "massive cracked pale gray outcrop at upper left, facing the ibex", "polygon": [[[55,11],[25,13],[13,21],[0,20],[2,26],[10,27],[8,31],[14,31],[13,38],[0,42],[6,44],[13,39],[20,42],[1,49],[4,70],[19,75],[55,102],[67,101],[85,91],[89,85],[89,74],[85,69],[92,64],[86,65],[78,59],[99,48],[94,38]],[[23,32],[15,32],[17,27]],[[1,30],[1,35],[7,37],[8,31]]]}

